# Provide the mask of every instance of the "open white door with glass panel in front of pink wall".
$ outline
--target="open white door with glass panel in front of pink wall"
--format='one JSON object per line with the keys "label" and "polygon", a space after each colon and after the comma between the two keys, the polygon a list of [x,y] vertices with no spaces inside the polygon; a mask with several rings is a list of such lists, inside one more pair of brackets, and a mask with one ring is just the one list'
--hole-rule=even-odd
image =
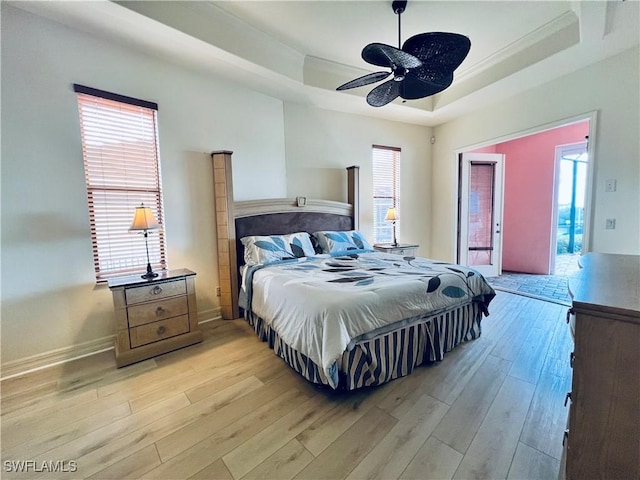
{"label": "open white door with glass panel in front of pink wall", "polygon": [[502,273],[504,155],[460,156],[458,262],[485,277]]}

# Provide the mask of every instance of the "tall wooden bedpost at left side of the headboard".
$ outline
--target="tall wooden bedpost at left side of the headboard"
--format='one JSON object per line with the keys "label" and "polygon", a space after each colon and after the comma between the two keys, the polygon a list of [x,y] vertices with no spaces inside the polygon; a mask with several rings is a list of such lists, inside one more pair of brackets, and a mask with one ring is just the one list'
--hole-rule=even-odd
{"label": "tall wooden bedpost at left side of the headboard", "polygon": [[236,224],[233,213],[233,175],[231,155],[211,152],[213,160],[213,194],[218,236],[218,276],[220,280],[220,314],[225,320],[238,318],[238,272],[236,272]]}

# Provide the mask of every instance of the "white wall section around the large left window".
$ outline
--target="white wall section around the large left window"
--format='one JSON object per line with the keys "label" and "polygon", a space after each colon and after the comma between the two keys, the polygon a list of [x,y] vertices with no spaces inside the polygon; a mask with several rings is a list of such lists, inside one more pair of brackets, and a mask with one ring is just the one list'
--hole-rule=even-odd
{"label": "white wall section around the large left window", "polygon": [[[114,333],[93,272],[72,84],[159,105],[167,251],[219,307],[212,150],[234,151],[239,199],[286,195],[282,102],[2,4],[2,364]],[[204,220],[204,222],[203,222]]]}

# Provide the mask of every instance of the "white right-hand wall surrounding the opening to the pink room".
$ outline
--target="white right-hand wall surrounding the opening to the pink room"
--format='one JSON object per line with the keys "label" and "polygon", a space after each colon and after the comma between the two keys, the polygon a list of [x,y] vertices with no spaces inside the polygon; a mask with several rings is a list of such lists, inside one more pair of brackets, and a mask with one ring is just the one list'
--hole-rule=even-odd
{"label": "white right-hand wall surrounding the opening to the pink room", "polygon": [[[592,111],[597,111],[597,135],[590,139],[595,149],[592,251],[640,254],[639,58],[635,48],[436,127],[431,255],[455,260],[456,150]],[[608,179],[617,180],[615,193],[605,193]],[[606,218],[616,219],[615,230],[604,229]]]}

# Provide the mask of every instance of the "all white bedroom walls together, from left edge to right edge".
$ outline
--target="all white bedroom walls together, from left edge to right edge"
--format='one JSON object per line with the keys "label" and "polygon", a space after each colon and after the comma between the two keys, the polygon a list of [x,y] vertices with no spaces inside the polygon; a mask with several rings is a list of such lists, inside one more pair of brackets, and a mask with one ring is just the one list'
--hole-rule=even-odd
{"label": "all white bedroom walls together, from left edge to right edge", "polygon": [[[205,318],[219,306],[209,157],[218,149],[234,151],[239,200],[345,201],[344,169],[360,165],[361,226],[371,238],[371,145],[401,147],[399,240],[446,260],[456,149],[598,110],[594,250],[640,253],[638,50],[433,129],[432,150],[431,128],[283,104],[4,3],[1,22],[3,366],[113,334],[110,292],[94,280],[73,83],[159,104],[169,263],[197,272]],[[615,194],[603,193],[610,178]],[[609,217],[614,231],[604,230]]]}

